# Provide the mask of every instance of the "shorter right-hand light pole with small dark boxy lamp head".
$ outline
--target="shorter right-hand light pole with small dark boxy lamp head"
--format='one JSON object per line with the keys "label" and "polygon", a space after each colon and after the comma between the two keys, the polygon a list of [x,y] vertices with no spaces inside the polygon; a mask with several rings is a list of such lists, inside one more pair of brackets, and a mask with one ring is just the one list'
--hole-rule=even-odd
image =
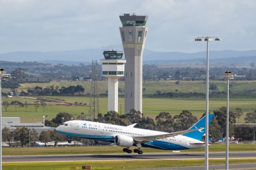
{"label": "shorter right-hand light pole with small dark boxy lamp head", "polygon": [[227,115],[226,115],[226,170],[228,170],[228,131],[229,131],[229,79],[233,79],[231,71],[225,71],[225,77],[227,78]]}

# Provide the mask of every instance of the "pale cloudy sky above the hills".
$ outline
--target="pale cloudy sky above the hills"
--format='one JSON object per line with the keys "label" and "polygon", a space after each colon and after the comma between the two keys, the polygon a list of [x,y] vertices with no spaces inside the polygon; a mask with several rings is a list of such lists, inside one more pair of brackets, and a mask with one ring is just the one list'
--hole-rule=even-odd
{"label": "pale cloudy sky above the hills", "polygon": [[256,49],[256,0],[0,0],[0,53],[66,51],[120,44],[119,15],[148,14],[146,48]]}

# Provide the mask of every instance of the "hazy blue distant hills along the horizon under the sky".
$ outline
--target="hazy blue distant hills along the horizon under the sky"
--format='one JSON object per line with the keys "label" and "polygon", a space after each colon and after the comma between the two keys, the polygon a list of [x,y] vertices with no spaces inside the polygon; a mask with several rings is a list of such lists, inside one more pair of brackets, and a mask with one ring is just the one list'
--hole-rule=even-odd
{"label": "hazy blue distant hills along the horizon under the sky", "polygon": [[[108,49],[117,49],[122,51],[122,44],[109,45],[100,48],[90,48],[90,49],[77,49],[69,51],[50,51],[50,52],[40,52],[40,51],[16,51],[10,53],[0,54],[0,58],[3,61],[38,61],[42,63],[63,63],[68,65],[78,65],[79,63],[91,63],[92,60],[103,59],[103,51]],[[232,57],[250,57],[256,56],[256,50],[247,51],[236,51],[236,50],[224,50],[224,51],[210,51],[210,59],[224,59]],[[200,51],[196,53],[184,53],[184,52],[161,52],[161,51],[151,51],[149,49],[144,50],[143,61],[144,63],[151,63],[152,61],[161,59],[165,62],[174,61],[184,62],[178,60],[187,60],[200,63],[206,57],[206,51]],[[66,62],[68,61],[68,62]],[[72,61],[72,63],[70,62]],[[187,62],[185,61],[185,62]],[[160,61],[159,61],[160,62]]]}

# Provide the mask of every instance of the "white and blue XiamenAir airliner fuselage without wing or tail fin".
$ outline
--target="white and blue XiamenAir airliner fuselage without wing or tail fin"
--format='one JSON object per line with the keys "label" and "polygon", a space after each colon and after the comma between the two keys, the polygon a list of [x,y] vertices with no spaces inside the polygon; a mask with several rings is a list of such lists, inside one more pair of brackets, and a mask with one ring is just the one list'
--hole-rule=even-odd
{"label": "white and blue XiamenAir airliner fuselage without wing or tail fin", "polygon": [[[102,140],[114,143],[116,135],[130,136],[132,138],[168,134],[154,130],[146,130],[134,127],[124,127],[106,123],[96,123],[90,121],[67,121],[56,128],[56,130],[67,136],[87,138],[92,140]],[[204,147],[204,142],[183,135],[153,140],[141,143],[142,147],[151,147],[164,150],[182,150]]]}

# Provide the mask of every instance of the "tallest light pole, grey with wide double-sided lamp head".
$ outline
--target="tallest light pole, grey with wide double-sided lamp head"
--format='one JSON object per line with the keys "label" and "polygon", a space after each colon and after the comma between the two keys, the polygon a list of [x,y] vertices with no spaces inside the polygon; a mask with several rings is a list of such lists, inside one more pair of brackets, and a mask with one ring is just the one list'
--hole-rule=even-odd
{"label": "tallest light pole, grey with wide double-sided lamp head", "polygon": [[205,170],[209,169],[209,42],[213,41],[212,38],[215,38],[215,41],[221,41],[218,37],[198,37],[195,41],[204,41],[207,42],[207,51],[206,51],[206,112],[205,112]]}

